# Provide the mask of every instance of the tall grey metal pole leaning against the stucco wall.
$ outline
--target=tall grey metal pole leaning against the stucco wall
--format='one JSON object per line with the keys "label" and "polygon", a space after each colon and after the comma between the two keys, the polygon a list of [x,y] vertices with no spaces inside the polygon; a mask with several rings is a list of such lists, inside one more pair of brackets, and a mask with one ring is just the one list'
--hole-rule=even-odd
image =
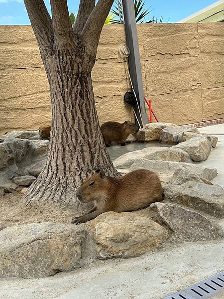
{"label": "tall grey metal pole leaning against the stucco wall", "polygon": [[[127,46],[130,49],[128,56],[130,76],[133,83],[134,91],[140,105],[143,125],[147,124],[147,115],[144,102],[144,90],[141,75],[141,62],[138,48],[137,27],[135,21],[135,12],[133,0],[122,0],[123,4],[123,21],[126,32]],[[141,119],[137,105],[134,107],[138,119]]]}

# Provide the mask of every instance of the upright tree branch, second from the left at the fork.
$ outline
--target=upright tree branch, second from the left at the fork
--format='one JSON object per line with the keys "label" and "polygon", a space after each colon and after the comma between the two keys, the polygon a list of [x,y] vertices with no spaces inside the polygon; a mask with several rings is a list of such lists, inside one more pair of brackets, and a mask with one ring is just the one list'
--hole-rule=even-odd
{"label": "upright tree branch, second from the left at the fork", "polygon": [[67,44],[73,38],[67,0],[50,0],[55,43]]}

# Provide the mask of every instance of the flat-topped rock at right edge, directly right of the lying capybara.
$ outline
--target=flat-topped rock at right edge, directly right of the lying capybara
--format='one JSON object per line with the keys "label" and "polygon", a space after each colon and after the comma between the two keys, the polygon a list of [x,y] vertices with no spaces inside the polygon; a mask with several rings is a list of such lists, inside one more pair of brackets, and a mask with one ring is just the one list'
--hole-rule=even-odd
{"label": "flat-topped rock at right edge, directly right of the lying capybara", "polygon": [[163,188],[164,199],[205,212],[217,218],[224,217],[224,190],[215,185],[187,182]]}

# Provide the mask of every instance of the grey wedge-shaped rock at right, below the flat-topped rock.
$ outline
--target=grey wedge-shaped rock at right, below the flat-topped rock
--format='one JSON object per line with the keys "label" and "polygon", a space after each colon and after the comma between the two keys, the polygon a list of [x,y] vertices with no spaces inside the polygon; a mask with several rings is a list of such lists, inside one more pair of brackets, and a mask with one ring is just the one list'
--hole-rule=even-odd
{"label": "grey wedge-shaped rock at right, below the flat-topped rock", "polygon": [[156,202],[151,207],[181,240],[212,240],[224,236],[219,225],[196,211],[168,202]]}

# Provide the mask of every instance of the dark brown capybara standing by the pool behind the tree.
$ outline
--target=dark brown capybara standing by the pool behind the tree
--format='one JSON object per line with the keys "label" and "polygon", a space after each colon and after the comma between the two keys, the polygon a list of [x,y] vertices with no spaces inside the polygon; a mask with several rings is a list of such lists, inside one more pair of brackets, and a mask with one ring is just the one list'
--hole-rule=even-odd
{"label": "dark brown capybara standing by the pool behind the tree", "polygon": [[136,134],[138,127],[129,121],[124,123],[107,122],[101,126],[101,133],[104,137],[106,147],[109,146],[111,141],[119,143],[121,146],[125,146],[125,141],[130,134]]}

